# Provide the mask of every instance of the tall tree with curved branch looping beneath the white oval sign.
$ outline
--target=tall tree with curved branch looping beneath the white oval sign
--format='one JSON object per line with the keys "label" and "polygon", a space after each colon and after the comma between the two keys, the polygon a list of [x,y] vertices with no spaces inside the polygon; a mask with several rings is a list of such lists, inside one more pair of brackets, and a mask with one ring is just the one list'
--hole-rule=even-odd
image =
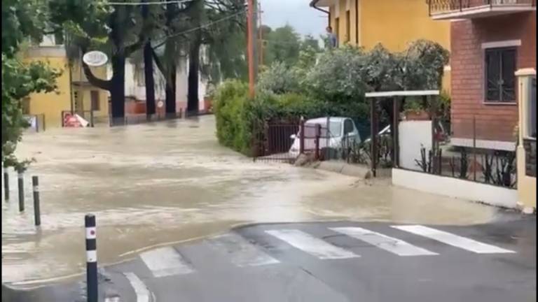
{"label": "tall tree with curved branch looping beneath the white oval sign", "polygon": [[50,0],[51,20],[67,29],[69,41],[81,52],[97,49],[109,54],[112,77],[97,78],[82,62],[88,81],[111,95],[113,124],[125,117],[125,60],[146,43],[149,32],[137,6],[109,6],[103,0]]}

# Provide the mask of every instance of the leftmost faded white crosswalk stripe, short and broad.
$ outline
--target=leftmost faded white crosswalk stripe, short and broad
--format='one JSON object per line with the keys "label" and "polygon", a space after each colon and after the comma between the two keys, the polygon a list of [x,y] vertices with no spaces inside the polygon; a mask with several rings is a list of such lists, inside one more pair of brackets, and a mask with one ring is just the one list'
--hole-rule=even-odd
{"label": "leftmost faded white crosswalk stripe, short and broad", "polygon": [[140,258],[156,278],[184,275],[194,271],[191,264],[174,247],[162,247],[143,252],[140,254]]}

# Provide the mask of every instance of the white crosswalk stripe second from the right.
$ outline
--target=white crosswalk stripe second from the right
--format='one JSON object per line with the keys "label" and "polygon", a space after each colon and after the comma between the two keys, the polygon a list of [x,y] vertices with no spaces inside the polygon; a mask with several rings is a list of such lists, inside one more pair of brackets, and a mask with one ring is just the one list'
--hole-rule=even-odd
{"label": "white crosswalk stripe second from the right", "polygon": [[399,256],[424,256],[424,255],[436,255],[437,253],[425,250],[422,247],[416,247],[406,243],[403,240],[392,238],[382,233],[376,233],[374,231],[369,231],[367,229],[362,229],[359,227],[336,227],[329,228],[337,233],[343,233],[346,236],[352,238],[357,238],[371,245],[386,250],[387,252],[392,252]]}

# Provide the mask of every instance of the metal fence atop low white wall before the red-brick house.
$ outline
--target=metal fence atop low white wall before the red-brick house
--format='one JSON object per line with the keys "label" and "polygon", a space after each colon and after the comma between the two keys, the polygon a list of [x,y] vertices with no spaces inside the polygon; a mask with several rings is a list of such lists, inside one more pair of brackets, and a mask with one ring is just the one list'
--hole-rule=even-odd
{"label": "metal fence atop low white wall before the red-brick house", "polygon": [[[432,127],[431,143],[425,140],[416,150],[412,170],[517,187],[515,124],[492,124],[490,118],[472,117],[455,120],[452,127],[451,132]],[[402,134],[401,139],[406,135]]]}

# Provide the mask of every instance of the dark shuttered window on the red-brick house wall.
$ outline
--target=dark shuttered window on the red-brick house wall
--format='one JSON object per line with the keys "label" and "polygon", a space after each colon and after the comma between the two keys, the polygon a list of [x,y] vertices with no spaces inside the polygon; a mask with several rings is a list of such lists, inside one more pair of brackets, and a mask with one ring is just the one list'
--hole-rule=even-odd
{"label": "dark shuttered window on the red-brick house wall", "polygon": [[516,101],[516,48],[485,50],[485,100]]}

